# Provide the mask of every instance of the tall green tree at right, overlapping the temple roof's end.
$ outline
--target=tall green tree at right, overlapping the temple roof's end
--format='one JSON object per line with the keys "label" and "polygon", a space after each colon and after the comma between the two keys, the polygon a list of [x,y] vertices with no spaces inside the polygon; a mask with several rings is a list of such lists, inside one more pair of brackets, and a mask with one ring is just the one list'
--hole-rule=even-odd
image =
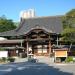
{"label": "tall green tree at right, overlapping the temple roof's end", "polygon": [[72,45],[75,42],[75,9],[72,9],[63,17],[63,28],[62,39]]}

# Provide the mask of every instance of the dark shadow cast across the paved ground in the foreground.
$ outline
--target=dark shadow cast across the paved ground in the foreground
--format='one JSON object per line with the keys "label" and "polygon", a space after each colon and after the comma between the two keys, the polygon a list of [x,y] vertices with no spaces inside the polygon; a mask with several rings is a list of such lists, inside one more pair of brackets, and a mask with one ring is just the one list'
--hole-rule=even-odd
{"label": "dark shadow cast across the paved ground in the foreground", "polygon": [[11,67],[13,70],[4,75],[73,75],[72,73],[62,72],[58,68],[48,66],[45,63],[10,63],[4,66]]}

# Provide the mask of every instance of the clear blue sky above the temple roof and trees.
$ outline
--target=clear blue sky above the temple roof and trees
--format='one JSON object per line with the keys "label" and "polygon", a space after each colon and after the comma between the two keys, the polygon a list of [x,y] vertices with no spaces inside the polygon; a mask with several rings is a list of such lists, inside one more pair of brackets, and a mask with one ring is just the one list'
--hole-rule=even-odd
{"label": "clear blue sky above the temple roof and trees", "polygon": [[34,9],[36,16],[64,15],[75,8],[75,0],[0,0],[0,16],[19,21],[20,12]]}

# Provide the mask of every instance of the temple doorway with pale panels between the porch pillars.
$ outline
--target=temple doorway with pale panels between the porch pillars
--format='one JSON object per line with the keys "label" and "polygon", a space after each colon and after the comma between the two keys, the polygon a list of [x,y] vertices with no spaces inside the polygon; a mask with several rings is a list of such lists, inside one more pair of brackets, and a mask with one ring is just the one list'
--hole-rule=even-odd
{"label": "temple doorway with pale panels between the porch pillars", "polygon": [[48,42],[39,43],[38,41],[31,41],[28,43],[28,53],[36,56],[48,56],[49,44]]}

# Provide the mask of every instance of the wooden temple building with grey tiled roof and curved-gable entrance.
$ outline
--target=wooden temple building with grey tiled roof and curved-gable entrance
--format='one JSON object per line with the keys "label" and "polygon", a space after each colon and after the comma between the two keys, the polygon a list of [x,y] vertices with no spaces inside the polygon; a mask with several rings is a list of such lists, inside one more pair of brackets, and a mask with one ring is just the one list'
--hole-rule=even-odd
{"label": "wooden temple building with grey tiled roof and curved-gable entrance", "polygon": [[49,56],[53,52],[52,46],[59,44],[60,33],[63,31],[61,17],[21,19],[19,27],[0,33],[0,37],[7,38],[0,41],[0,47],[9,50],[13,56],[18,52],[28,55],[30,51],[35,55]]}

